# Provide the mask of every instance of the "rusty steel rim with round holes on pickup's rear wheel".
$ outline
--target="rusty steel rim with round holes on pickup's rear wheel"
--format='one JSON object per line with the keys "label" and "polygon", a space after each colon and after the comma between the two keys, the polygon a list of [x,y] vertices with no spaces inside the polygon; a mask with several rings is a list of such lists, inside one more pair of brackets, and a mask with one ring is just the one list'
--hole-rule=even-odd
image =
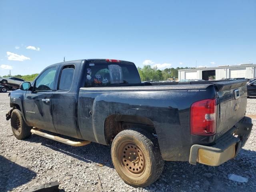
{"label": "rusty steel rim with round holes on pickup's rear wheel", "polygon": [[141,176],[146,168],[143,151],[132,142],[124,142],[118,150],[118,159],[122,169],[130,176]]}

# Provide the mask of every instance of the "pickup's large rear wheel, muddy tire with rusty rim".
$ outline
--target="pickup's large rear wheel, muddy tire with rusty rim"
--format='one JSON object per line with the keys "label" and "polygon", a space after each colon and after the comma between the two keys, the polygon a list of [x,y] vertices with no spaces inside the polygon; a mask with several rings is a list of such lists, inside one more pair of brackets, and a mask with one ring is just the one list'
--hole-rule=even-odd
{"label": "pickup's large rear wheel, muddy tire with rusty rim", "polygon": [[149,186],[164,169],[157,138],[140,128],[118,133],[112,143],[111,157],[118,175],[134,187]]}

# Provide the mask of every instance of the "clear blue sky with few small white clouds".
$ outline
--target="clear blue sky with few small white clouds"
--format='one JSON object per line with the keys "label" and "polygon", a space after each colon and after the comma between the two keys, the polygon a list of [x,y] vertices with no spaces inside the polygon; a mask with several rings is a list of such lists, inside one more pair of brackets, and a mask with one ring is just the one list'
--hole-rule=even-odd
{"label": "clear blue sky with few small white clouds", "polygon": [[1,0],[0,26],[0,75],[64,56],[160,69],[256,63],[255,0]]}

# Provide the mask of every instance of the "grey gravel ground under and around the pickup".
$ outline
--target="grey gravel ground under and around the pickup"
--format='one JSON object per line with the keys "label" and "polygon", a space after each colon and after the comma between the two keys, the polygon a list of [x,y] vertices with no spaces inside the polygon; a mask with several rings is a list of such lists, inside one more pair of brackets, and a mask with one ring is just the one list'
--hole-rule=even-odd
{"label": "grey gravel ground under and around the pickup", "polygon": [[[52,181],[60,182],[63,192],[255,191],[256,98],[248,99],[247,103],[247,115],[253,118],[254,127],[235,159],[218,167],[166,162],[157,182],[146,188],[133,188],[125,184],[114,170],[109,146],[92,143],[76,148],[36,135],[17,140],[12,134],[10,121],[5,120],[9,109],[8,93],[0,93],[0,191],[17,192]],[[248,183],[228,180],[228,174],[246,177]]]}

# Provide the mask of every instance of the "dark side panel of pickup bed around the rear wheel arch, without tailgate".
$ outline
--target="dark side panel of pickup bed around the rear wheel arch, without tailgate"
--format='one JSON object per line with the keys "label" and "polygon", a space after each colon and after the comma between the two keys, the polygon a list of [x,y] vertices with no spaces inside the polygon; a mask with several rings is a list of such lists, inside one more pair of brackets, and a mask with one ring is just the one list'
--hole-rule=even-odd
{"label": "dark side panel of pickup bed around the rear wheel arch, without tailgate", "polygon": [[152,90],[80,89],[78,122],[82,137],[106,144],[104,122],[108,116],[146,117],[155,126],[164,160],[186,161],[193,142],[190,106],[198,100],[215,98],[216,90],[213,85],[185,87],[174,86],[172,90],[154,90],[153,86]]}

